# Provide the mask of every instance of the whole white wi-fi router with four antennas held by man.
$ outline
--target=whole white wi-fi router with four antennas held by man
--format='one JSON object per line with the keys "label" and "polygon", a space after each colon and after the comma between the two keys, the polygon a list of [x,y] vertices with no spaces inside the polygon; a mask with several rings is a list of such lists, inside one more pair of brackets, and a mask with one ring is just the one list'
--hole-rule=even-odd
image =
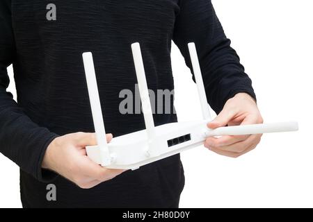
{"label": "whole white wi-fi router with four antennas held by man", "polygon": [[298,123],[295,121],[226,126],[216,128],[215,130],[207,128],[207,123],[211,121],[211,115],[209,113],[209,105],[207,104],[207,96],[204,91],[198,55],[193,42],[188,44],[188,48],[200,97],[202,120],[154,126],[143,58],[141,56],[141,47],[139,43],[134,43],[131,44],[131,49],[134,57],[146,129],[115,137],[109,144],[106,141],[106,130],[102,118],[93,55],[90,52],[83,53],[83,65],[85,67],[93,123],[97,136],[97,146],[86,147],[87,155],[91,160],[110,169],[134,170],[145,164],[200,146],[210,136],[250,135],[298,130]]}

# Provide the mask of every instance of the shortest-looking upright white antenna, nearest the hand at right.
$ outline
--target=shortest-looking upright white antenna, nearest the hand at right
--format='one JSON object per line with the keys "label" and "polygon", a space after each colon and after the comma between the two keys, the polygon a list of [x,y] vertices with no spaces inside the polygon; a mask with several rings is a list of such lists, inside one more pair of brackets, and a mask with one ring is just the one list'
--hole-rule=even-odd
{"label": "shortest-looking upright white antenna, nearest the hand at right", "polygon": [[202,116],[204,120],[211,120],[211,114],[209,110],[209,105],[207,104],[207,95],[205,94],[205,89],[203,85],[203,79],[200,69],[200,64],[198,60],[197,50],[195,49],[195,43],[188,43],[189,54],[191,57],[191,63],[193,65],[193,74],[195,75],[195,83],[198,87],[198,94],[202,108]]}

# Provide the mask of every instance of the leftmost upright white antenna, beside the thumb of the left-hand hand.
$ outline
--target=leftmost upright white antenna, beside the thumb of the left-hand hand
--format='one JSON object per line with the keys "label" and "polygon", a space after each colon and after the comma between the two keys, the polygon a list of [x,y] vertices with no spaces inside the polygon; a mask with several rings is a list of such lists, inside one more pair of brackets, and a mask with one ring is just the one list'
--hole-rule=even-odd
{"label": "leftmost upright white antenna, beside the thumb of the left-hand hand", "polygon": [[93,113],[93,124],[97,137],[97,144],[100,153],[102,166],[107,166],[111,163],[108,144],[106,141],[106,130],[102,117],[102,109],[100,105],[99,92],[97,87],[97,78],[95,76],[95,67],[93,65],[93,54],[83,53],[83,66],[85,67],[86,80],[88,85],[88,93],[91,111]]}

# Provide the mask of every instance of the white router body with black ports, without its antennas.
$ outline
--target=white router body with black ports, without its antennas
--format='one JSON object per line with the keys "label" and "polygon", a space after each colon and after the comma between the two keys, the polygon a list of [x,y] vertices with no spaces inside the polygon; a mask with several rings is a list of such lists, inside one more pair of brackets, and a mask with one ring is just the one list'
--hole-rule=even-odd
{"label": "white router body with black ports, without its antennas", "polygon": [[[203,144],[207,137],[207,121],[168,123],[155,127],[155,140],[147,137],[146,130],[115,137],[108,144],[111,169],[138,169],[145,164],[161,160]],[[157,152],[150,151],[150,144]],[[88,146],[88,156],[102,164],[98,146]]]}

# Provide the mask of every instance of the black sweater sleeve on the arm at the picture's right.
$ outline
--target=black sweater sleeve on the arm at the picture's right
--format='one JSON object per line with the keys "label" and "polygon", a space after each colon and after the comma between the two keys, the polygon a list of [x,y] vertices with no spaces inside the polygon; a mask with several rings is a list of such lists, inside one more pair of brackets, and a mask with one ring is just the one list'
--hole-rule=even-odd
{"label": "black sweater sleeve on the arm at the picture's right", "polygon": [[208,103],[215,112],[219,113],[226,101],[239,92],[255,99],[251,80],[230,46],[210,0],[181,0],[172,38],[192,73],[187,44],[195,42]]}

